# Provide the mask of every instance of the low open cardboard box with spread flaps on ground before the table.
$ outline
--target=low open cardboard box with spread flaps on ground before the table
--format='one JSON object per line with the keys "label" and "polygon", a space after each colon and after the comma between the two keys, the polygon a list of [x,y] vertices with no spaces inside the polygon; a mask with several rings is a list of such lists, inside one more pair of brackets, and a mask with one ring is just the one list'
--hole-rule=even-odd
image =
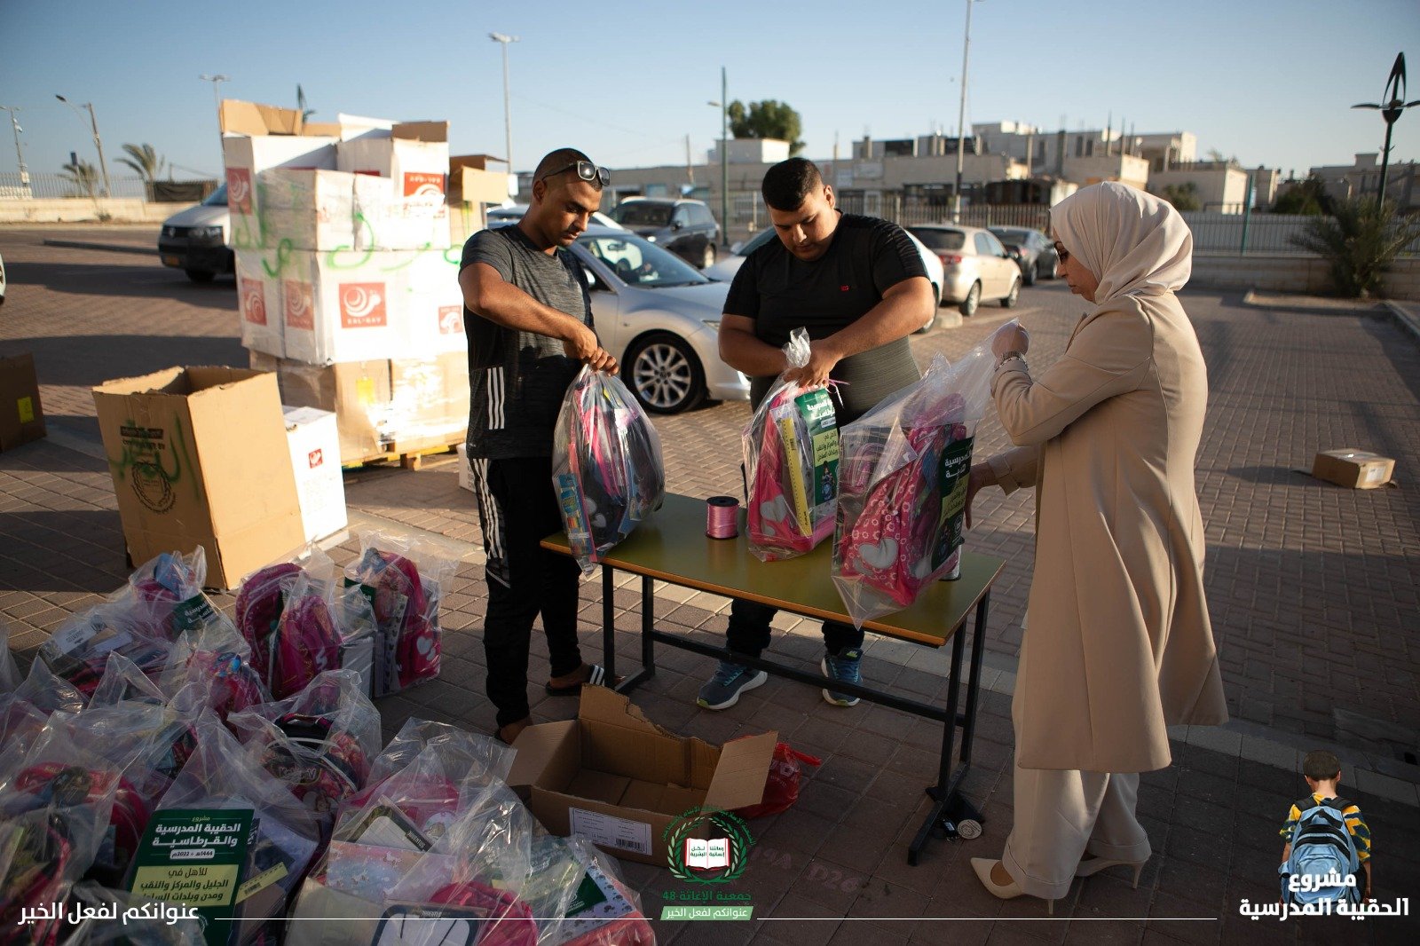
{"label": "low open cardboard box with spread flaps on ground before the table", "polygon": [[758,804],[777,733],[723,747],[676,736],[621,693],[584,686],[577,719],[528,726],[508,785],[557,835],[574,831],[609,854],[666,866],[666,828],[686,811]]}

